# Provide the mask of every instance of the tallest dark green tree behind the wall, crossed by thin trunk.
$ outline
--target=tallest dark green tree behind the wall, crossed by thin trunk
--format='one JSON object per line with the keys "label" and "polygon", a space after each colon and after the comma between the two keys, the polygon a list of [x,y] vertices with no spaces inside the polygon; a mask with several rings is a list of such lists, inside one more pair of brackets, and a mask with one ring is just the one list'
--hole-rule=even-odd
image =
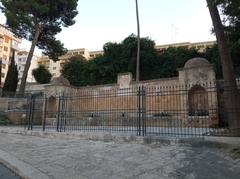
{"label": "tallest dark green tree behind the wall, crossed by thin trunk", "polygon": [[[112,69],[112,75],[115,80],[118,73],[132,72],[136,78],[136,57],[137,57],[138,39],[131,34],[125,38],[121,43],[106,43],[104,45],[104,57],[108,59],[108,68]],[[151,79],[159,69],[156,69],[155,60],[157,59],[157,52],[155,50],[155,43],[150,38],[140,39],[140,79]]]}

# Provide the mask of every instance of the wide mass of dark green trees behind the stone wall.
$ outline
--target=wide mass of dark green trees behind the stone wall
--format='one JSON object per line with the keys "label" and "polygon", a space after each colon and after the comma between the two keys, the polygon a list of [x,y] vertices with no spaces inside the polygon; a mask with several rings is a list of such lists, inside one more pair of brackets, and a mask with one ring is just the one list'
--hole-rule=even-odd
{"label": "wide mass of dark green trees behind the stone wall", "polygon": [[[133,34],[122,42],[108,42],[103,46],[104,54],[87,61],[82,56],[69,60],[62,74],[72,85],[99,85],[117,82],[118,73],[131,72],[136,75],[137,37]],[[196,56],[204,56],[195,49],[169,48],[159,55],[150,38],[141,38],[141,80],[174,77],[177,68]]]}

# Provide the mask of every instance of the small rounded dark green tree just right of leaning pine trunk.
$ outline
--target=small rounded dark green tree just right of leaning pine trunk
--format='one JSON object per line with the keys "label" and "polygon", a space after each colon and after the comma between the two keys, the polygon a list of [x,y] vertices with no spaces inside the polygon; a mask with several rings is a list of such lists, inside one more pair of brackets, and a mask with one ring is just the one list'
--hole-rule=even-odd
{"label": "small rounded dark green tree just right of leaning pine trunk", "polygon": [[32,75],[39,84],[46,84],[51,81],[52,74],[45,67],[40,65],[38,68],[33,69]]}

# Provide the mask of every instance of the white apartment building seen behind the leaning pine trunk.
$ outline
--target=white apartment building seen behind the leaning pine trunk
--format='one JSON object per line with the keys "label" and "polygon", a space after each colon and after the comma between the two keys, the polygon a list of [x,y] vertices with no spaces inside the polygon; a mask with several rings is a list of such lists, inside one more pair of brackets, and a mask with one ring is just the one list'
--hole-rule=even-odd
{"label": "white apartment building seen behind the leaning pine trunk", "polygon": [[[17,64],[18,68],[18,84],[21,83],[22,76],[23,76],[23,71],[26,65],[28,57],[28,51],[26,50],[20,50],[16,54],[15,62]],[[28,83],[34,83],[36,82],[33,75],[32,75],[32,70],[38,67],[38,56],[33,55],[32,60],[31,60],[31,65],[28,70],[28,76],[27,76],[27,82]]]}

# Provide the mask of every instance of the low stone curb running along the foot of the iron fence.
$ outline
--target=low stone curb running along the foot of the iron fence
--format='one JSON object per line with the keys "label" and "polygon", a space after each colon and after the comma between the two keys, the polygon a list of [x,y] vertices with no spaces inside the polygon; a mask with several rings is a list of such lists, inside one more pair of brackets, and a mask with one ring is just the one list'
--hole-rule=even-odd
{"label": "low stone curb running along the foot of the iron fence", "polygon": [[60,139],[82,139],[82,140],[99,140],[104,142],[118,143],[139,143],[139,144],[159,144],[159,145],[191,145],[192,147],[240,147],[240,137],[193,137],[193,138],[176,138],[176,137],[159,137],[159,136],[133,136],[112,133],[94,133],[94,132],[55,132],[55,131],[28,131],[21,128],[0,128],[1,133],[31,135],[38,137],[50,137]]}

